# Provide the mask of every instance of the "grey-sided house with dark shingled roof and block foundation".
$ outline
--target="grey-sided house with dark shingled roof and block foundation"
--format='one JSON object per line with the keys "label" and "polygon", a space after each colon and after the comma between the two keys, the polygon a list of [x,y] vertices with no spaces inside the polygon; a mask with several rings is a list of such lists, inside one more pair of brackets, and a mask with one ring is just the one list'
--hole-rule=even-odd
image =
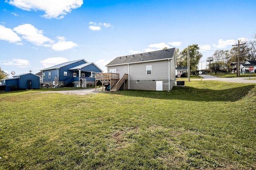
{"label": "grey-sided house with dark shingled roof and block foundation", "polygon": [[[122,78],[124,80],[121,82],[126,82],[124,89],[171,90],[175,85],[175,48],[116,57],[106,67],[108,73],[104,74],[112,73],[111,77],[117,79],[116,83],[111,84],[110,81],[110,90],[115,91],[122,87],[122,83],[120,86],[116,85]],[[97,76],[96,80],[104,79],[102,74]]]}

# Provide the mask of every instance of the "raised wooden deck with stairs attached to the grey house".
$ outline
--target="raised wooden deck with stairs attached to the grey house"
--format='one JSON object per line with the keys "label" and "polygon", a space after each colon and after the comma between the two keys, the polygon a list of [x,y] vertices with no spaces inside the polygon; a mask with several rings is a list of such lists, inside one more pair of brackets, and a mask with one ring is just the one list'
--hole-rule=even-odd
{"label": "raised wooden deck with stairs attached to the grey house", "polygon": [[[128,74],[124,74],[121,78],[116,73],[99,73],[95,75],[95,85],[100,81],[102,83],[102,91],[105,84],[110,84],[110,91],[118,91],[123,85],[123,89],[128,89]],[[96,89],[96,86],[95,86]]]}

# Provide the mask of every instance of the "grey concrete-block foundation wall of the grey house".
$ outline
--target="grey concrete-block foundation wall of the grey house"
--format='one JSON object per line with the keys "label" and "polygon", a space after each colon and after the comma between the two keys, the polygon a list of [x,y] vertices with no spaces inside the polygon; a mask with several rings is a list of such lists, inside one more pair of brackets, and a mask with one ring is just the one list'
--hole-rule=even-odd
{"label": "grey concrete-block foundation wall of the grey house", "polygon": [[[132,80],[130,81],[130,90],[156,90],[156,81],[163,81],[163,90],[169,90],[168,80]],[[175,85],[173,80],[170,80],[170,90]]]}

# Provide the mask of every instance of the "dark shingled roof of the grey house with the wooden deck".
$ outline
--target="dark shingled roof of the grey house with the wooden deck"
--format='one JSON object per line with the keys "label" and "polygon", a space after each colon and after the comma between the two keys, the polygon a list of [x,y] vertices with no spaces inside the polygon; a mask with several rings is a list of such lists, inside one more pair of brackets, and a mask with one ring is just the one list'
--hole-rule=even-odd
{"label": "dark shingled roof of the grey house with the wooden deck", "polygon": [[128,63],[139,63],[139,62],[154,61],[154,60],[161,60],[161,59],[171,59],[174,56],[174,53],[175,53],[175,48],[172,48],[172,49],[166,49],[166,50],[159,50],[159,51],[152,51],[152,52],[116,57],[106,66],[121,65],[121,64],[128,64]]}

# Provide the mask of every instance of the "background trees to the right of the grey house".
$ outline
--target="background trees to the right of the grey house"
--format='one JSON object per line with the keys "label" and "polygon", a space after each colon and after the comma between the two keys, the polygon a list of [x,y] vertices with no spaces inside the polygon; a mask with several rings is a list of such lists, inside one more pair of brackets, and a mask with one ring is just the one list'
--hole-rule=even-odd
{"label": "background trees to the right of the grey house", "polygon": [[[233,46],[230,50],[216,50],[212,55],[213,61],[208,64],[207,69],[213,70],[215,73],[230,72],[232,68],[230,64],[238,59],[240,62],[256,60],[256,33],[253,37],[252,41],[241,41],[240,44],[242,45]],[[195,74],[198,70],[198,63],[203,56],[199,52],[200,47],[197,44],[189,45],[182,51],[176,48],[177,66],[188,65],[188,48],[190,51],[190,74]]]}

